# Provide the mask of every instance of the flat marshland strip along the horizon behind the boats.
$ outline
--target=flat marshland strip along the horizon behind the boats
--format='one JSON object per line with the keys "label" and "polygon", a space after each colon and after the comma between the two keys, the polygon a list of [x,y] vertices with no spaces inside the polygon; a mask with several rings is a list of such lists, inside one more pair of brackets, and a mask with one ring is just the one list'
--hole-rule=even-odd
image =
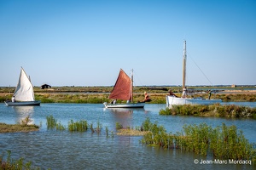
{"label": "flat marshland strip along the horizon behind the boats", "polygon": [[[248,101],[255,102],[256,94],[250,93],[247,89],[255,89],[255,87],[191,87],[189,89],[197,92],[207,91],[208,89],[218,90],[222,89],[233,89],[239,90],[239,93],[224,93],[224,94],[212,94],[212,98],[222,99],[224,102],[230,101]],[[134,88],[134,101],[142,101],[144,99],[143,92],[147,91],[152,104],[165,104],[166,94],[168,89],[172,89],[173,93],[180,96],[182,93],[181,87],[135,87]],[[200,91],[198,89],[201,89]],[[54,87],[49,89],[40,89],[34,87],[35,98],[41,100],[42,103],[91,103],[91,104],[102,104],[103,102],[110,102],[108,99],[109,93],[113,90],[113,87]],[[15,91],[14,87],[2,87],[0,88],[0,102],[7,99],[11,99]],[[193,94],[191,97],[207,98],[208,94]],[[118,101],[121,102],[121,101]],[[125,101],[123,101],[125,102]]]}

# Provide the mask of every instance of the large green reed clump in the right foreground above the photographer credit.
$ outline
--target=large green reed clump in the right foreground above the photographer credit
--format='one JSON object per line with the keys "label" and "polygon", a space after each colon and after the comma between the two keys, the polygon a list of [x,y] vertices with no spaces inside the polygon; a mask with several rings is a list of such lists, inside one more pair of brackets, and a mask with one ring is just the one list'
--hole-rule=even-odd
{"label": "large green reed clump in the right foreground above the photographer credit", "polygon": [[256,161],[256,150],[253,144],[245,139],[242,131],[236,126],[210,127],[206,123],[185,125],[183,132],[166,133],[165,127],[149,119],[143,122],[143,128],[149,130],[141,142],[152,146],[160,146],[169,150],[186,150],[201,156],[212,154],[217,159]]}

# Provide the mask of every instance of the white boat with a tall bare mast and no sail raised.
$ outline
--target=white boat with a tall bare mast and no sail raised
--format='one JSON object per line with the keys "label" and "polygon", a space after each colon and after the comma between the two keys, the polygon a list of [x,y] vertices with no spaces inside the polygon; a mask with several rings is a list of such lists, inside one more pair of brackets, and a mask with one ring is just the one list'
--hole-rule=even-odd
{"label": "white boat with a tall bare mast and no sail raised", "polygon": [[188,90],[186,88],[186,41],[184,41],[183,48],[183,94],[181,98],[174,95],[166,95],[166,105],[213,105],[220,103],[221,99],[203,99],[203,98],[189,98]]}

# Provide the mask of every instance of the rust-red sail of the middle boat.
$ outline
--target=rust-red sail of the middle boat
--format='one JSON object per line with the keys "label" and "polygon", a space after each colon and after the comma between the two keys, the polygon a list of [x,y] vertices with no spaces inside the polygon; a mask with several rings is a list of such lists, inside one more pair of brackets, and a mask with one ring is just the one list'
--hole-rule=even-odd
{"label": "rust-red sail of the middle boat", "polygon": [[109,99],[123,99],[131,101],[131,78],[128,77],[122,69],[119,72],[119,77],[115,82],[113,91],[109,95]]}

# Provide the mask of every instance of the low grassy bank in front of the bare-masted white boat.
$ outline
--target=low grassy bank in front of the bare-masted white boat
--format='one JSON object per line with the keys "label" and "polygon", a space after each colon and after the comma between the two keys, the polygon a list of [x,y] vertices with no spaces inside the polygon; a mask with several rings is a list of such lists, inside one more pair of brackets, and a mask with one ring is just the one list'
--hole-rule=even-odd
{"label": "low grassy bank in front of the bare-masted white boat", "polygon": [[172,105],[160,110],[160,115],[217,116],[256,119],[256,108],[239,105]]}

